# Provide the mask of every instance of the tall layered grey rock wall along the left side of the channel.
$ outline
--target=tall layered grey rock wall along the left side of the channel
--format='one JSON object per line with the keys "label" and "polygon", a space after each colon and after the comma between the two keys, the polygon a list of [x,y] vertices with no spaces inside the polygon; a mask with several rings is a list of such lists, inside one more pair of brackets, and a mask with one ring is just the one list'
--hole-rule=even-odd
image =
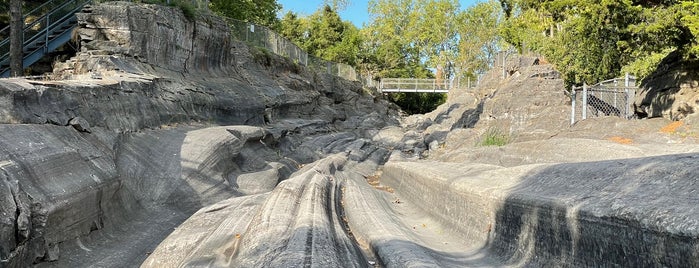
{"label": "tall layered grey rock wall along the left side of the channel", "polygon": [[2,267],[138,265],[183,215],[325,155],[295,150],[306,135],[397,122],[359,83],[259,59],[218,18],[128,2],[78,16],[63,79],[0,81]]}

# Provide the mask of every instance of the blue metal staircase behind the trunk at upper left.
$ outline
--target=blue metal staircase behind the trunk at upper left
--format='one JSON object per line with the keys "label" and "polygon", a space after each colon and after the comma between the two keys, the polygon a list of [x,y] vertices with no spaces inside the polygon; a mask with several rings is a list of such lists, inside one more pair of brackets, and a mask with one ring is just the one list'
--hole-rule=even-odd
{"label": "blue metal staircase behind the trunk at upper left", "polygon": [[[68,42],[80,11],[91,0],[49,0],[24,15],[23,66],[31,66]],[[10,75],[10,27],[0,30],[0,77]]]}

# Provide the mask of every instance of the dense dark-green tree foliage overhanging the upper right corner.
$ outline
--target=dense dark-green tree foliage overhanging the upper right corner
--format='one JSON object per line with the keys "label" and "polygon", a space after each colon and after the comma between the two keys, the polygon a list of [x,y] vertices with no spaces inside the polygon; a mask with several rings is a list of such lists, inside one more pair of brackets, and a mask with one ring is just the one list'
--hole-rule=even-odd
{"label": "dense dark-green tree foliage overhanging the upper right corner", "polygon": [[500,0],[503,38],[554,63],[568,84],[650,73],[663,55],[696,57],[696,1]]}

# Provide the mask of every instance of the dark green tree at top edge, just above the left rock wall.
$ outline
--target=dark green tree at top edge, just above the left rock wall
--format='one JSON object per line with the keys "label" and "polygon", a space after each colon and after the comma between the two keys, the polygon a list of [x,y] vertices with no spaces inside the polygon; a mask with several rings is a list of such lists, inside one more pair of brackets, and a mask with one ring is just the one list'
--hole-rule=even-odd
{"label": "dark green tree at top edge, just above the left rock wall", "polygon": [[276,28],[281,5],[276,0],[211,0],[209,8],[220,16]]}

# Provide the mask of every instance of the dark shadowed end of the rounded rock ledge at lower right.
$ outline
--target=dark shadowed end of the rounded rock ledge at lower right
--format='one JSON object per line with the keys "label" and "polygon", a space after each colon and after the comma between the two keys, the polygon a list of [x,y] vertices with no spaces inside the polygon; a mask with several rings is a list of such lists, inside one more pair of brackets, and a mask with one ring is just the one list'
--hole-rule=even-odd
{"label": "dark shadowed end of the rounded rock ledge at lower right", "polygon": [[699,154],[548,166],[496,212],[489,249],[508,264],[699,266]]}

